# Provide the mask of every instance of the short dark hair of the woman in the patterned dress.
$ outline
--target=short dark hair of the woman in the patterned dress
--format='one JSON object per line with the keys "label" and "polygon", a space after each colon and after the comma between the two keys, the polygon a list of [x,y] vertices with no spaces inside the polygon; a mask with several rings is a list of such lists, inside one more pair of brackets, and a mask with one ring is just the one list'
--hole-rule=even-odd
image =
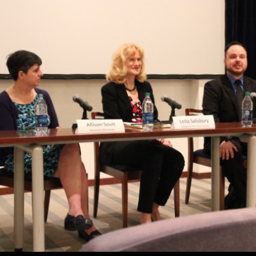
{"label": "short dark hair of the woman in the patterned dress", "polygon": [[42,60],[35,53],[28,51],[17,51],[11,53],[8,56],[6,66],[9,69],[9,73],[14,79],[14,81],[18,80],[19,71],[23,71],[23,73],[27,74],[28,70],[34,65],[42,65]]}

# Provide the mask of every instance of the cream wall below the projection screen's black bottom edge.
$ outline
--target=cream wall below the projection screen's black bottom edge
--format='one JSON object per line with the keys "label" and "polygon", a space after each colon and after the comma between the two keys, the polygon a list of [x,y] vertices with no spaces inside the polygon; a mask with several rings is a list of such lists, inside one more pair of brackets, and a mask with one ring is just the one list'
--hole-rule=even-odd
{"label": "cream wall below the projection screen's black bottom edge", "polygon": [[[156,106],[159,111],[159,119],[169,119],[171,109],[161,101],[161,95],[167,94],[177,100],[182,105],[181,110],[177,110],[176,115],[185,115],[186,108],[202,108],[203,87],[206,81],[149,81],[153,86],[156,99]],[[12,81],[0,81],[0,91],[12,85]],[[59,122],[63,128],[70,128],[76,119],[81,119],[82,109],[72,101],[74,94],[79,94],[83,99],[89,101],[93,106],[93,111],[102,111],[101,87],[106,81],[42,81],[41,88],[48,91],[54,102]],[[90,118],[90,115],[89,115]],[[177,148],[188,159],[187,139],[173,139],[173,146]],[[94,151],[93,144],[82,146],[82,157],[85,163],[89,179],[94,177]],[[196,139],[197,149],[203,147],[203,139]],[[185,167],[187,171],[187,163]],[[197,172],[207,172],[209,169],[199,169]],[[103,176],[102,176],[103,177]]]}

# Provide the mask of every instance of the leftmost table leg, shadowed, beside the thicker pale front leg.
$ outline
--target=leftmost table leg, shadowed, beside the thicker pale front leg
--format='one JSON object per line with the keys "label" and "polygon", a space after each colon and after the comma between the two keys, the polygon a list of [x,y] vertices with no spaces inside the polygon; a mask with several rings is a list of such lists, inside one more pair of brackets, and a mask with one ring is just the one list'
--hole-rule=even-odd
{"label": "leftmost table leg, shadowed, beside the thicker pale front leg", "polygon": [[22,252],[24,242],[24,151],[14,148],[14,248]]}

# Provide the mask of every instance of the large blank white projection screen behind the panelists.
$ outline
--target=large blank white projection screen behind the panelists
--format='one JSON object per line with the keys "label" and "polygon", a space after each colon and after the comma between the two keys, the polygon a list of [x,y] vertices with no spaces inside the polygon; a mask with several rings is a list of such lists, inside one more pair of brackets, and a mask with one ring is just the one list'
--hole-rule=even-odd
{"label": "large blank white projection screen behind the panelists", "polygon": [[225,0],[0,0],[5,57],[36,52],[45,74],[106,74],[124,43],[145,48],[148,74],[221,74]]}

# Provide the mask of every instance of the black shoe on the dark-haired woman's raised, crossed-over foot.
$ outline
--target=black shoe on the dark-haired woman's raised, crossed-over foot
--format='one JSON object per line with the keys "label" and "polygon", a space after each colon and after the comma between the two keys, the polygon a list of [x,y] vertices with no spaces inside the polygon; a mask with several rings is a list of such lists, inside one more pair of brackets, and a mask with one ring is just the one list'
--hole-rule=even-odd
{"label": "black shoe on the dark-haired woman's raised, crossed-over foot", "polygon": [[76,231],[89,229],[93,226],[92,220],[85,219],[82,215],[78,215],[77,217],[73,217],[71,215],[67,215],[65,218],[65,229],[68,231]]}

